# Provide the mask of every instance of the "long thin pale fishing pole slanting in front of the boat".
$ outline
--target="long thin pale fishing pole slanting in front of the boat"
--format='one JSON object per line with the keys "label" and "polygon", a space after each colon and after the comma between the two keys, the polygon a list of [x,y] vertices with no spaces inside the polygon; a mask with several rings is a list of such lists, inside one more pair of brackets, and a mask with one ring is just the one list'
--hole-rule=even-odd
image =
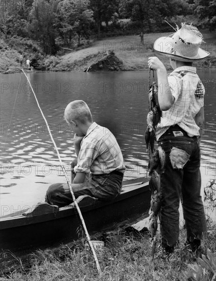
{"label": "long thin pale fishing pole slanting in front of the boat", "polygon": [[93,244],[92,244],[92,242],[91,242],[91,240],[90,240],[90,237],[89,237],[89,235],[88,235],[88,230],[87,230],[87,228],[86,228],[85,221],[84,221],[84,219],[83,219],[83,216],[82,216],[80,207],[79,207],[79,205],[78,205],[78,203],[77,203],[77,200],[76,200],[76,198],[75,198],[75,195],[74,195],[74,192],[73,192],[71,183],[70,183],[70,181],[69,181],[69,179],[68,179],[66,170],[65,170],[65,168],[64,168],[64,166],[63,166],[63,163],[62,163],[62,160],[61,160],[61,157],[60,157],[58,148],[57,148],[57,146],[56,146],[55,140],[54,140],[53,135],[52,135],[52,133],[51,133],[51,131],[50,131],[50,126],[49,126],[49,124],[48,124],[47,121],[46,121],[46,118],[45,118],[45,116],[44,116],[44,114],[43,114],[42,109],[40,108],[40,105],[39,105],[39,103],[38,103],[38,100],[37,100],[37,97],[36,97],[36,95],[35,95],[35,92],[34,92],[34,90],[33,90],[33,88],[32,88],[32,85],[31,85],[31,83],[30,83],[30,81],[29,81],[29,78],[27,77],[27,75],[26,75],[25,71],[23,71],[23,69],[21,69],[21,71],[25,74],[25,76],[26,76],[26,78],[27,78],[27,80],[28,80],[28,82],[29,82],[29,85],[30,85],[30,87],[31,87],[31,89],[32,89],[32,92],[33,92],[33,94],[34,94],[35,100],[36,100],[36,102],[37,102],[38,108],[40,109],[40,112],[41,112],[41,114],[42,114],[42,116],[43,116],[43,119],[44,119],[44,121],[45,121],[47,130],[48,130],[48,132],[49,132],[49,134],[50,134],[50,137],[51,137],[52,142],[53,142],[53,144],[54,144],[56,153],[57,153],[57,155],[58,155],[61,169],[62,169],[62,171],[63,171],[63,173],[64,173],[65,178],[66,178],[67,184],[68,184],[69,189],[70,189],[70,193],[71,193],[71,195],[72,195],[73,201],[74,201],[74,203],[75,203],[75,206],[76,206],[76,208],[77,208],[77,210],[78,210],[78,214],[79,214],[79,216],[80,216],[80,220],[81,220],[82,225],[83,225],[83,228],[84,228],[84,230],[85,230],[85,235],[86,235],[86,238],[87,238],[87,240],[88,240],[88,243],[89,243],[89,246],[90,246],[90,248],[91,248],[91,251],[92,251],[92,253],[93,253],[93,257],[94,257],[95,264],[96,264],[96,266],[97,266],[97,269],[98,269],[99,274],[101,274],[101,268],[100,268],[100,265],[99,265],[99,262],[98,262],[98,257],[97,257],[97,255],[96,255],[96,253],[95,253]]}

